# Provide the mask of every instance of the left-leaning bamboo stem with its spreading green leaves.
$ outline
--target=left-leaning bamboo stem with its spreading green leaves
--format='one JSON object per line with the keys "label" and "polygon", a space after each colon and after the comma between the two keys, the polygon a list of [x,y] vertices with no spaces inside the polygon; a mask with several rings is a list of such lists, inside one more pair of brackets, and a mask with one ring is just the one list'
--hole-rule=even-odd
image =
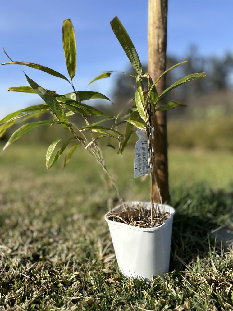
{"label": "left-leaning bamboo stem with its spreading green leaves", "polygon": [[[8,142],[4,146],[3,150],[7,148],[11,143],[18,140],[24,134],[30,132],[32,129],[40,127],[42,125],[53,125],[55,123],[59,123],[71,134],[71,137],[62,144],[62,146],[55,152],[56,145],[60,142],[60,140],[56,140],[52,142],[48,147],[46,153],[46,167],[47,169],[51,168],[59,159],[61,154],[65,151],[66,147],[71,143],[74,139],[75,144],[71,146],[69,151],[66,154],[64,160],[64,166],[69,162],[72,154],[80,145],[84,146],[87,151],[89,151],[98,161],[98,163],[102,166],[103,170],[107,173],[112,185],[115,187],[117,191],[117,195],[120,198],[116,183],[112,176],[109,174],[103,159],[103,155],[100,147],[98,146],[97,140],[102,137],[108,137],[114,140],[117,140],[120,148],[121,148],[121,139],[122,134],[118,132],[115,127],[116,118],[113,116],[109,116],[102,111],[89,106],[87,104],[82,103],[82,101],[87,101],[91,99],[104,99],[109,100],[109,98],[102,93],[96,91],[76,91],[75,86],[73,84],[73,78],[76,72],[76,41],[75,41],[75,32],[73,25],[70,19],[67,19],[63,22],[62,27],[62,39],[63,39],[63,49],[65,53],[66,67],[69,74],[69,78],[65,77],[63,74],[39,65],[30,62],[21,62],[21,61],[13,61],[4,50],[7,57],[10,59],[7,63],[1,63],[1,65],[24,65],[37,70],[41,70],[55,77],[61,78],[68,82],[72,88],[72,92],[68,94],[60,95],[56,91],[50,91],[35,81],[33,81],[30,77],[28,77],[25,73],[25,77],[29,83],[29,86],[17,86],[10,87],[8,91],[14,92],[24,92],[24,93],[37,93],[42,100],[45,102],[44,104],[30,106],[25,109],[20,109],[16,112],[8,114],[5,118],[0,121],[0,137],[6,132],[8,128],[15,125],[18,122],[25,122],[20,128],[18,128],[9,138]],[[103,79],[106,77],[110,77],[112,72],[104,72],[98,77],[94,78],[88,85],[93,83],[96,80]],[[50,113],[50,120],[40,120],[29,122],[28,120],[32,117],[38,117],[43,115],[44,113]],[[77,127],[74,123],[71,122],[70,117],[73,114],[80,114],[85,122],[85,126]],[[102,117],[98,122],[94,122],[89,124],[88,116]],[[105,122],[112,120],[113,126],[107,127],[103,125]],[[94,137],[93,134],[98,134],[98,136]],[[112,146],[112,145],[110,145]],[[51,159],[52,154],[55,153],[53,159]],[[120,199],[121,200],[121,199]]]}

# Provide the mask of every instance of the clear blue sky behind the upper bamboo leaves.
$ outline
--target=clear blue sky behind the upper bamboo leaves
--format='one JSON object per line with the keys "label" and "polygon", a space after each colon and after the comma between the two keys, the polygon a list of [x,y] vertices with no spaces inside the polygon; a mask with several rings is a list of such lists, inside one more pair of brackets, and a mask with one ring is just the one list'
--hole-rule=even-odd
{"label": "clear blue sky behind the upper bamboo leaves", "polygon": [[[233,2],[225,0],[168,0],[167,53],[185,57],[190,44],[202,55],[233,53],[229,36]],[[128,31],[142,63],[147,62],[147,0],[2,0],[0,62],[39,63],[68,76],[62,47],[62,22],[71,18],[77,43],[74,84],[85,89],[103,71],[124,71],[130,65],[109,22],[118,16]],[[10,86],[28,85],[22,72],[38,84],[59,93],[71,90],[68,82],[23,66],[0,66],[0,118],[16,109],[40,102],[38,95],[7,92]],[[116,76],[115,76],[116,77]],[[112,94],[112,77],[93,83],[90,90]]]}

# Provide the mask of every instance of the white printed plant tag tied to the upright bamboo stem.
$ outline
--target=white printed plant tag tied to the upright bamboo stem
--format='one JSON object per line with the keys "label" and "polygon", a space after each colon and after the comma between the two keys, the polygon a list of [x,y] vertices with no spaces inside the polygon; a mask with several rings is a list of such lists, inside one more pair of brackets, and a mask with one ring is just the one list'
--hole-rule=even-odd
{"label": "white printed plant tag tied to the upright bamboo stem", "polygon": [[[153,131],[154,128],[151,130],[152,135]],[[134,178],[150,173],[150,167],[148,168],[148,142],[146,131],[137,128],[136,134],[139,140],[135,145]]]}

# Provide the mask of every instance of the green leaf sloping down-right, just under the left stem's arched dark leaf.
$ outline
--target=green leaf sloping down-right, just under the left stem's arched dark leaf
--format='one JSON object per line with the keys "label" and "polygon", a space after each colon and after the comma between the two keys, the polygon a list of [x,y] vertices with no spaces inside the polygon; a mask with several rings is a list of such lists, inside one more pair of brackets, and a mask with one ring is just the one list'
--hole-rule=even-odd
{"label": "green leaf sloping down-right, just under the left stem's arched dark leaf", "polygon": [[91,107],[89,105],[80,103],[76,100],[71,100],[65,96],[60,96],[56,98],[57,101],[62,103],[62,107],[69,109],[73,112],[76,112],[78,114],[87,114],[91,116],[102,116],[102,117],[109,117],[107,114],[104,114],[100,110]]}

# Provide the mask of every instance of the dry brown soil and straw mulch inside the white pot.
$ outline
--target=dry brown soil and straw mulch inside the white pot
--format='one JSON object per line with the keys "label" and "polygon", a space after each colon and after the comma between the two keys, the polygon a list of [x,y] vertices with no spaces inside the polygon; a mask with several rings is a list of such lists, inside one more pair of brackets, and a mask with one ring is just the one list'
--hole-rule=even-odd
{"label": "dry brown soil and straw mulch inside the white pot", "polygon": [[[126,203],[121,210],[110,211],[107,219],[124,223],[139,228],[154,228],[162,225],[170,216],[170,213],[159,209],[158,204],[151,213],[142,203]],[[151,220],[152,218],[152,220]]]}

